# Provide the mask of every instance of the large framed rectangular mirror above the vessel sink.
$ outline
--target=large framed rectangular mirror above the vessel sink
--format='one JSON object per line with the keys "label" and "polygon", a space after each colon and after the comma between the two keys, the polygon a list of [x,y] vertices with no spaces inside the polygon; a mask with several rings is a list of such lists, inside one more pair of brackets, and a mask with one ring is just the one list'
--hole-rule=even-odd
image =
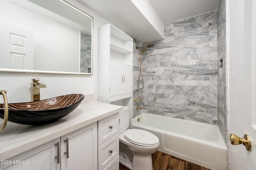
{"label": "large framed rectangular mirror above the vessel sink", "polygon": [[0,28],[0,71],[92,74],[93,18],[68,0],[1,0]]}

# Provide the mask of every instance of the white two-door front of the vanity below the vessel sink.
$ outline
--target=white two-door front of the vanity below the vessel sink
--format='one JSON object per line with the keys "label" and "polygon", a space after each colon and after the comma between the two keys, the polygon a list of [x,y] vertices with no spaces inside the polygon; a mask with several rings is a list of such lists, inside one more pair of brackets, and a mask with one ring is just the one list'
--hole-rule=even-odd
{"label": "white two-door front of the vanity below the vessel sink", "polygon": [[[97,170],[97,123],[32,148],[1,164],[4,170]],[[67,157],[69,156],[69,158]],[[16,162],[18,161],[18,162]],[[17,163],[17,164],[14,164]]]}

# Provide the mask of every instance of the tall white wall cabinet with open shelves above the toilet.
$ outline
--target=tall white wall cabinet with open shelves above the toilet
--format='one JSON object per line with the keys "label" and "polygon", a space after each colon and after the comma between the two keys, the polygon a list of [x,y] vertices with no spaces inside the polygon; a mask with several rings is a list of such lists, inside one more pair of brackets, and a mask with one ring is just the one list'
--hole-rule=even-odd
{"label": "tall white wall cabinet with open shelves above the toilet", "polygon": [[107,24],[99,28],[99,101],[132,97],[133,39]]}

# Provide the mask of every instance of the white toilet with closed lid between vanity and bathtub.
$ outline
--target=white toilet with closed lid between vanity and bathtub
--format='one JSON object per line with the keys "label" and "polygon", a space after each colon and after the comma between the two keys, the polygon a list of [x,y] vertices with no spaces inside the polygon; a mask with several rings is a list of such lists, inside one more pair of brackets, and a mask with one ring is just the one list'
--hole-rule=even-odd
{"label": "white toilet with closed lid between vanity and bathtub", "polygon": [[141,129],[130,129],[129,107],[119,113],[119,162],[132,170],[152,170],[152,156],[158,149],[156,135]]}

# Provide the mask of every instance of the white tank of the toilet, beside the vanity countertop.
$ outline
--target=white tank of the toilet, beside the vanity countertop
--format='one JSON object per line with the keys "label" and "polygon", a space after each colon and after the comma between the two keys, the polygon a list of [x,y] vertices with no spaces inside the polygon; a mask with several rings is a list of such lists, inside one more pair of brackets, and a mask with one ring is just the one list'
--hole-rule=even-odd
{"label": "white tank of the toilet, beside the vanity countertop", "polygon": [[123,106],[124,109],[119,112],[119,133],[129,128],[130,111],[128,106]]}

